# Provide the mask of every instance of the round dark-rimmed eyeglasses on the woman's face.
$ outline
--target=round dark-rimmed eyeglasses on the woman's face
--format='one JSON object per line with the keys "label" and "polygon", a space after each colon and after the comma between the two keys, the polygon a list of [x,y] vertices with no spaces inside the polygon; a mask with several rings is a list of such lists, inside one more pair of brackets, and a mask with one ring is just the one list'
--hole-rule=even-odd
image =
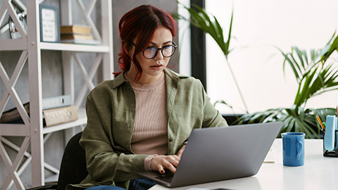
{"label": "round dark-rimmed eyeglasses on the woman's face", "polygon": [[[132,44],[135,46],[134,43]],[[158,51],[161,50],[163,57],[169,58],[173,56],[176,48],[177,48],[177,45],[174,42],[173,42],[173,45],[163,46],[162,48],[156,48],[154,46],[149,46],[148,48],[144,49],[143,56],[146,59],[152,59],[152,58],[155,58],[157,56]]]}

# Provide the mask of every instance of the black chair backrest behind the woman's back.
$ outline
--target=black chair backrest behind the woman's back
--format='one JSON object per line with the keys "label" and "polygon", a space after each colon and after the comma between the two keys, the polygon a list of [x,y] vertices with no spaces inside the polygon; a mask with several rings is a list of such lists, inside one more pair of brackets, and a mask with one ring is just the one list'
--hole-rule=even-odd
{"label": "black chair backrest behind the woman's back", "polygon": [[81,135],[82,132],[75,134],[65,146],[58,175],[58,190],[64,190],[68,184],[79,184],[88,175],[84,149],[79,144]]}

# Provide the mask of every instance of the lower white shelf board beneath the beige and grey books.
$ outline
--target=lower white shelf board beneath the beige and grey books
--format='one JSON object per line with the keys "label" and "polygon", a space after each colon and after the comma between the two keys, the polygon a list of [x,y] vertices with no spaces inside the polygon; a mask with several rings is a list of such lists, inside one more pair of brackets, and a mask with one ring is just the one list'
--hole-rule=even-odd
{"label": "lower white shelf board beneath the beige and grey books", "polygon": [[79,113],[79,119],[77,119],[73,122],[66,122],[66,123],[63,123],[63,124],[60,124],[60,125],[54,125],[54,126],[51,126],[51,127],[44,127],[42,129],[42,134],[57,132],[57,131],[61,131],[63,129],[70,129],[70,128],[73,128],[75,126],[85,125],[87,123],[86,110],[79,109],[78,113]]}

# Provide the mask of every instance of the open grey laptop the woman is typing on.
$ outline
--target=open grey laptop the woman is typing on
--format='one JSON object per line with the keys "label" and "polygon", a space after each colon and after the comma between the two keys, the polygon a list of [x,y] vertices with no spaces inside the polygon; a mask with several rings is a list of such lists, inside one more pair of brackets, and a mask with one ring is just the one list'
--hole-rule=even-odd
{"label": "open grey laptop the woman is typing on", "polygon": [[175,174],[139,175],[168,187],[256,175],[282,122],[194,129]]}

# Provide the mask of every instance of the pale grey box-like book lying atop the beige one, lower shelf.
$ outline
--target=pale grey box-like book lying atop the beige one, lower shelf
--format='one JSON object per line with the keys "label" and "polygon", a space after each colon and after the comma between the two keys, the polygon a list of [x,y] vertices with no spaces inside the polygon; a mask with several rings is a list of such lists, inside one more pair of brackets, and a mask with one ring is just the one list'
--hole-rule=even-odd
{"label": "pale grey box-like book lying atop the beige one, lower shelf", "polygon": [[70,106],[72,104],[70,95],[51,96],[42,99],[42,110]]}

